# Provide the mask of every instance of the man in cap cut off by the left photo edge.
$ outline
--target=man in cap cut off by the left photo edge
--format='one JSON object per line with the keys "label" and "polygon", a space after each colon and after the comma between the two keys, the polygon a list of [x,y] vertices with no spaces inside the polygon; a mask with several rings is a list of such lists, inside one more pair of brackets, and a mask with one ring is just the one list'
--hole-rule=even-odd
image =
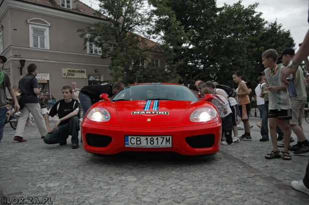
{"label": "man in cap cut off by the left photo edge", "polygon": [[6,73],[2,71],[5,62],[6,58],[4,56],[0,56],[0,142],[3,137],[3,126],[4,126],[4,120],[6,118],[6,104],[7,104],[5,95],[6,88],[11,97],[13,98],[14,109],[18,111],[20,108],[16,99],[15,92],[9,80],[9,77]]}

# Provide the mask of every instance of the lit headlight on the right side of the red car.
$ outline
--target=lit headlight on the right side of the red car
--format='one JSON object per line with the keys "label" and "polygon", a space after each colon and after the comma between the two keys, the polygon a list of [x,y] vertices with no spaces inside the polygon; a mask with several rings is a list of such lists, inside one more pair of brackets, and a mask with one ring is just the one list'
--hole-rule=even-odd
{"label": "lit headlight on the right side of the red car", "polygon": [[195,109],[190,114],[190,121],[192,122],[206,122],[211,119],[214,119],[218,116],[218,113],[215,109],[210,107],[201,107]]}

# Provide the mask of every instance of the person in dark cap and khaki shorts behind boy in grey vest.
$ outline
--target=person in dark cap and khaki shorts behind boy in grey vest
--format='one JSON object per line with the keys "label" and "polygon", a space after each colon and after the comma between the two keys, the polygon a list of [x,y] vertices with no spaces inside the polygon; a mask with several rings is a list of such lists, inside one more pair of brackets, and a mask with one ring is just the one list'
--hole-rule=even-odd
{"label": "person in dark cap and khaki shorts behind boy in grey vest", "polygon": [[[283,64],[287,66],[289,62],[293,59],[294,55],[294,49],[286,48],[282,51],[279,58],[282,58]],[[292,106],[292,119],[290,119],[290,136],[293,130],[293,132],[297,136],[297,144],[290,147],[289,150],[295,151],[294,154],[304,154],[309,152],[309,141],[306,139],[302,127],[307,93],[305,87],[304,72],[300,66],[296,71],[294,84],[297,96],[290,99]]]}

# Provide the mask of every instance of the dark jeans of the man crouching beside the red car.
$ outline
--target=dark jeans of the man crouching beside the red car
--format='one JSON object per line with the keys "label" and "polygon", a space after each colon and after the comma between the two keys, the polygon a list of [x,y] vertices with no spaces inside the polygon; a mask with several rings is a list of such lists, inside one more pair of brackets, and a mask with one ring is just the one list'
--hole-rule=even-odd
{"label": "dark jeans of the man crouching beside the red car", "polygon": [[48,133],[44,137],[46,144],[60,144],[65,143],[69,135],[72,135],[72,144],[78,144],[79,118],[77,116],[71,117],[69,122],[58,126],[58,130]]}

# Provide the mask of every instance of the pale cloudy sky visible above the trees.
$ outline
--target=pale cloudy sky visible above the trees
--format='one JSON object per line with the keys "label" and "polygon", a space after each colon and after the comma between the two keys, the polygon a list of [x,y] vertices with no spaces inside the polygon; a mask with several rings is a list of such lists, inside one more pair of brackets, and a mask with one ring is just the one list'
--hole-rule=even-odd
{"label": "pale cloudy sky visible above the trees", "polygon": [[[98,1],[96,0],[81,0],[85,4],[97,9]],[[238,0],[217,0],[217,6],[226,4],[233,4]],[[294,38],[296,49],[298,44],[303,42],[304,37],[308,31],[308,8],[309,0],[242,0],[244,6],[248,6],[255,2],[259,2],[256,8],[257,12],[262,12],[262,17],[274,22],[277,19],[278,23],[282,24],[282,28],[290,30]]]}

